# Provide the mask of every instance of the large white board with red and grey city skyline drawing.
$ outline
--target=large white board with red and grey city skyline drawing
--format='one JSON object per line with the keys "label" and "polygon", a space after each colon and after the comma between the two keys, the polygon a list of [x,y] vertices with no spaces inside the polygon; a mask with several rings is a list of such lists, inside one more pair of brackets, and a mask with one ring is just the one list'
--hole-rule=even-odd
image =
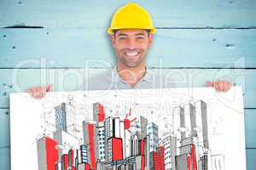
{"label": "large white board with red and grey city skyline drawing", "polygon": [[26,169],[246,169],[241,88],[12,94],[10,103],[12,170],[25,150]]}

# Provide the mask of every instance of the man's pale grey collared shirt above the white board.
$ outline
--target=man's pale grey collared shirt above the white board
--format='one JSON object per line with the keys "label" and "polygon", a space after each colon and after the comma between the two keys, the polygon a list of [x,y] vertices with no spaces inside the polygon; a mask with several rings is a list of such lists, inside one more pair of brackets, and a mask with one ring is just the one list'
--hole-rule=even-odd
{"label": "man's pale grey collared shirt above the white board", "polygon": [[145,75],[134,88],[119,77],[116,66],[101,74],[91,77],[84,84],[84,90],[114,90],[114,89],[147,89],[176,88],[175,81],[167,79],[159,70],[146,70]]}

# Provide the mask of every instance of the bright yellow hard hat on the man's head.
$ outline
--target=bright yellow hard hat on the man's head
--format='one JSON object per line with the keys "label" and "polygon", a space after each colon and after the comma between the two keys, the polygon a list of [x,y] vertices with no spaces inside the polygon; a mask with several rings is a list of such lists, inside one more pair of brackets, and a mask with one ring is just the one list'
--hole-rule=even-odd
{"label": "bright yellow hard hat on the man's head", "polygon": [[114,30],[120,29],[150,30],[151,34],[154,34],[156,31],[150,14],[144,8],[137,5],[137,3],[127,3],[113,14],[108,33],[113,34]]}

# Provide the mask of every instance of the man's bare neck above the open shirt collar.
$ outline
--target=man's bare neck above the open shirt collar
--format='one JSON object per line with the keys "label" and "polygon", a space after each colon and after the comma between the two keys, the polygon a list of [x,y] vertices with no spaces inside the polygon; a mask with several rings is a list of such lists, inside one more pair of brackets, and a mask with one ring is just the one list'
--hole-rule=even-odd
{"label": "man's bare neck above the open shirt collar", "polygon": [[131,88],[134,88],[137,82],[145,75],[146,65],[143,63],[137,67],[127,67],[125,65],[118,64],[117,71],[119,73],[119,77],[121,77],[123,81],[127,82]]}

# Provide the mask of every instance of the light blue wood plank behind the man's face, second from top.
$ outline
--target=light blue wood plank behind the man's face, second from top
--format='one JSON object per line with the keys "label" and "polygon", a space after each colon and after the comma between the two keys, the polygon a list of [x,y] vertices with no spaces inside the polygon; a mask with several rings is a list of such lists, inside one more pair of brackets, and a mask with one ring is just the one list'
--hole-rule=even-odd
{"label": "light blue wood plank behind the man's face, second from top", "polygon": [[[41,58],[51,60],[49,67],[109,67],[115,62],[106,29],[0,29],[0,37],[2,68],[44,67],[43,61],[22,65]],[[254,29],[161,29],[149,50],[148,65],[255,68],[255,47]]]}

